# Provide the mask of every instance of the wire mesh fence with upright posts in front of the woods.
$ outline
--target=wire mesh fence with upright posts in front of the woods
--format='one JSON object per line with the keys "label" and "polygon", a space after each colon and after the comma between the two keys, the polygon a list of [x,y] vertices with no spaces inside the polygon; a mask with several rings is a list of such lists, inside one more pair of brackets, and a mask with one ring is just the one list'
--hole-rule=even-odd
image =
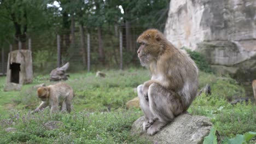
{"label": "wire mesh fence with upright posts in front of the woods", "polygon": [[146,28],[109,27],[77,28],[74,37],[69,30],[21,35],[2,46],[0,74],[7,71],[8,53],[15,50],[32,51],[33,71],[49,74],[56,67],[70,63],[69,71],[123,69],[137,66],[136,39]]}

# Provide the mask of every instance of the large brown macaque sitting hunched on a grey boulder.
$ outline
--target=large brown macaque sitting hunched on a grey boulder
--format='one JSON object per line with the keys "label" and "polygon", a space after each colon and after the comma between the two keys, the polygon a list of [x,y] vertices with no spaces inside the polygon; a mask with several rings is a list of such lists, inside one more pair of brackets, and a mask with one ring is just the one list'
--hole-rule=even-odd
{"label": "large brown macaque sitting hunched on a grey boulder", "polygon": [[152,78],[137,87],[146,121],[143,130],[154,135],[174,117],[186,113],[196,96],[198,70],[194,61],[174,47],[157,29],[148,29],[137,39],[143,67]]}

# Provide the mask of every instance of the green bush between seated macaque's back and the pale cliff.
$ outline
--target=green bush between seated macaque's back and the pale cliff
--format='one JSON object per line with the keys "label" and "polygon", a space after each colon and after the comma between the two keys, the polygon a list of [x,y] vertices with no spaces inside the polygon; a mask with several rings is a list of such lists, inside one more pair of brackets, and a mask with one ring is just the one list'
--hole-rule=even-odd
{"label": "green bush between seated macaque's back and the pale cliff", "polygon": [[194,60],[194,62],[196,63],[197,67],[201,70],[204,71],[206,73],[210,73],[212,72],[210,65],[207,63],[205,57],[203,57],[201,55],[201,53],[196,52],[196,51],[191,51],[190,49],[187,49],[185,47],[183,47],[182,49],[185,49],[189,56]]}

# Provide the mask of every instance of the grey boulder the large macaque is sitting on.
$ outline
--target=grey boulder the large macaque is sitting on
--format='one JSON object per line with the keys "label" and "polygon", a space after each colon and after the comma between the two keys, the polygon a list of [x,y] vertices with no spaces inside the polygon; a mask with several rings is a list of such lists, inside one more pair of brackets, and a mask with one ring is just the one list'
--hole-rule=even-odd
{"label": "grey boulder the large macaque is sitting on", "polygon": [[139,133],[142,137],[154,143],[202,143],[203,137],[210,133],[212,123],[210,119],[202,116],[180,115],[170,124],[167,124],[161,131],[149,136],[142,130],[144,116],[132,124],[131,133]]}

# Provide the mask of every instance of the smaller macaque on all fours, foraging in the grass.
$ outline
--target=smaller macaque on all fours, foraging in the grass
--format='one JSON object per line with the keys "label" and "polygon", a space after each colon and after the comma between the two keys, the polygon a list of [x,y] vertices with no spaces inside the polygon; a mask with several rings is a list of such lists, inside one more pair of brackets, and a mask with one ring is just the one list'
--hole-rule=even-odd
{"label": "smaller macaque on all fours, foraging in the grass", "polygon": [[55,85],[39,87],[37,96],[42,100],[42,103],[32,113],[38,112],[47,106],[50,107],[51,113],[56,112],[59,106],[61,111],[71,112],[71,101],[74,97],[74,92],[71,86],[66,83],[59,82]]}

